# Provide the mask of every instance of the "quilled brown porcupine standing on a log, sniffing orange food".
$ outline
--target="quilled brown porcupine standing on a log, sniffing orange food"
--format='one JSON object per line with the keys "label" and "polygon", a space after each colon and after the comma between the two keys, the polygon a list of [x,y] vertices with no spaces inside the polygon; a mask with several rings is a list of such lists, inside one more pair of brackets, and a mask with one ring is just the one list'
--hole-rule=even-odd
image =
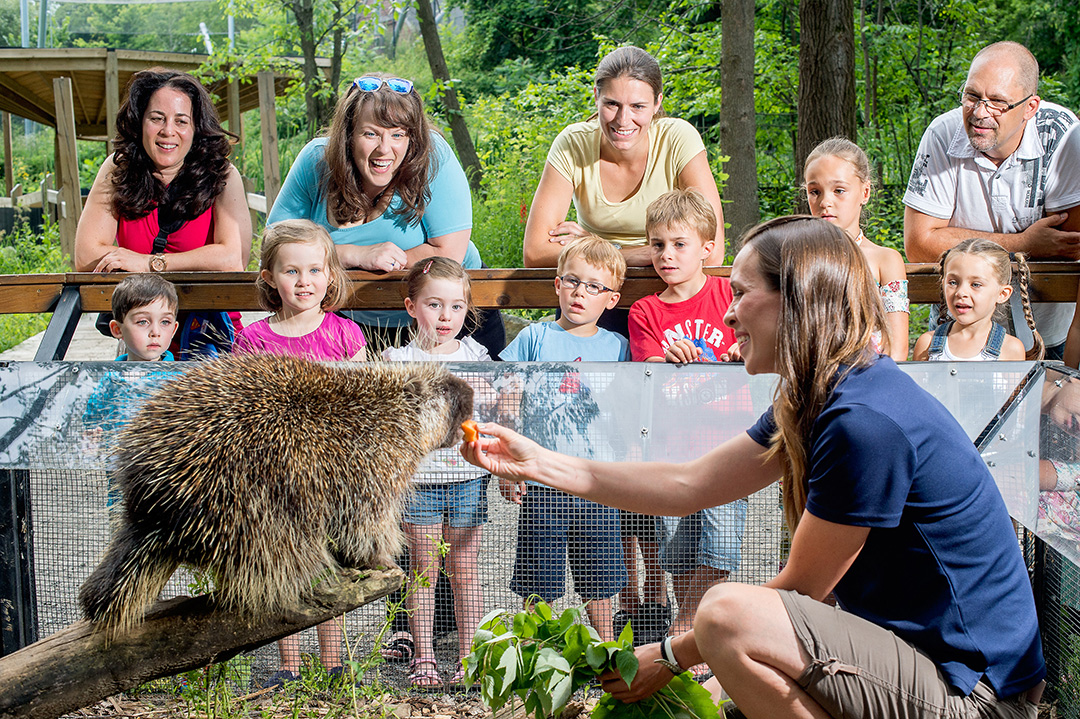
{"label": "quilled brown porcupine standing on a log, sniffing orange food", "polygon": [[201,363],[120,434],[123,513],[79,591],[84,615],[113,635],[134,626],[181,564],[251,614],[294,602],[326,569],[391,566],[409,479],[460,439],[472,394],[437,365]]}

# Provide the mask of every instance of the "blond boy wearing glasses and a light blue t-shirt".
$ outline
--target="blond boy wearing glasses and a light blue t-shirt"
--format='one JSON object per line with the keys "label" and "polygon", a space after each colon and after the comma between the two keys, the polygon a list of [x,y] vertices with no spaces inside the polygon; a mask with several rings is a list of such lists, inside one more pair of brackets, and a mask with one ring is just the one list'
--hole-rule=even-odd
{"label": "blond boy wearing glasses and a light blue t-shirt", "polygon": [[[503,350],[505,362],[620,362],[630,360],[626,338],[596,326],[619,303],[626,261],[615,245],[595,235],[568,244],[558,257],[555,291],[561,315],[529,325]],[[519,405],[521,425],[551,449],[594,457],[589,429],[599,416],[588,377],[572,368],[523,368],[511,378],[518,388],[504,398]],[[531,483],[499,481],[499,491],[522,505],[510,588],[551,602],[563,596],[569,559],[573,588],[589,602],[585,612],[605,641],[611,632],[611,597],[626,584],[619,538],[619,512]]]}

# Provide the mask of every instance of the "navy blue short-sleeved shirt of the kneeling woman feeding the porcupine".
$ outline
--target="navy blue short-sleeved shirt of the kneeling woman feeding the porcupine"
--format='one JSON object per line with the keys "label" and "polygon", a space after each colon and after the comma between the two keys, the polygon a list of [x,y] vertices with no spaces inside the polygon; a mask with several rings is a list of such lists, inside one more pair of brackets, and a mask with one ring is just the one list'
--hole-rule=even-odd
{"label": "navy blue short-sleeved shirt of the kneeling woman feeding the porcupine", "polygon": [[[767,447],[769,409],[748,430]],[[1035,598],[1004,501],[947,409],[889,357],[833,390],[810,435],[806,511],[869,527],[836,598],[924,651],[964,694],[1045,676]]]}

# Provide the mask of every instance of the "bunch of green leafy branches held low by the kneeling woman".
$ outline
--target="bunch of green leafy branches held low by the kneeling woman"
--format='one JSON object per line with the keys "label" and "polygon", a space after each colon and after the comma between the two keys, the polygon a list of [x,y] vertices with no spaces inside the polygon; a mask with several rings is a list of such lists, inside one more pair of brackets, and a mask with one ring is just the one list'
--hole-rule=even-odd
{"label": "bunch of green leafy branches held low by the kneeling woman", "polygon": [[[612,669],[629,684],[637,675],[630,626],[616,641],[600,641],[595,629],[581,623],[582,609],[571,607],[556,616],[550,606],[537,601],[509,623],[504,610],[488,613],[464,659],[465,683],[478,682],[481,696],[492,710],[516,697],[537,719],[557,716],[576,691]],[[593,719],[718,716],[708,691],[688,671],[634,704],[605,694],[592,713]]]}

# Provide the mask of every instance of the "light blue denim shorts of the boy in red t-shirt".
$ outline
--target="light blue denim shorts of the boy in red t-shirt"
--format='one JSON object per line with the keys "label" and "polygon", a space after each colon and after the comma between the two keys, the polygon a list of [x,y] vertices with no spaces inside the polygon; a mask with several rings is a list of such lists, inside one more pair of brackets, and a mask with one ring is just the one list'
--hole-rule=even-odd
{"label": "light blue denim shorts of the boy in red t-shirt", "polygon": [[663,517],[660,565],[672,574],[685,574],[701,566],[733,572],[739,569],[745,528],[744,499],[687,517]]}

